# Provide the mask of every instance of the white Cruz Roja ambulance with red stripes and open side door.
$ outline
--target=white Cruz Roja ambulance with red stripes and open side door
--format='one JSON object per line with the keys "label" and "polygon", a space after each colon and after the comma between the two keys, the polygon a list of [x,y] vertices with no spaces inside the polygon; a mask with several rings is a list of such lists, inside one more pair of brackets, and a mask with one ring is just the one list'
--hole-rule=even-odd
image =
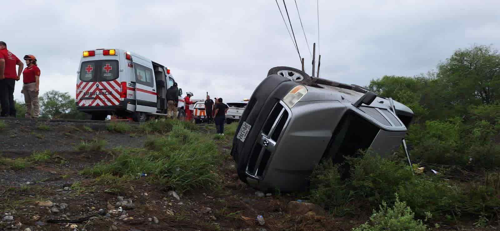
{"label": "white Cruz Roja ambulance with red stripes and open side door", "polygon": [[[83,52],[77,74],[76,108],[92,120],[166,116],[166,90],[175,80],[161,64],[125,50],[95,49]],[[184,115],[181,94],[179,89],[179,117]]]}

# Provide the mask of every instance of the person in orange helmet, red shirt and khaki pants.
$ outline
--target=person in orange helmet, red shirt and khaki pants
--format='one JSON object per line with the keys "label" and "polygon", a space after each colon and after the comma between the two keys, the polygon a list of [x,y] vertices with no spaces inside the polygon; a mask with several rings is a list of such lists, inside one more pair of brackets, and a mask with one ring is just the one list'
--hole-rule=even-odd
{"label": "person in orange helmet, red shirt and khaki pants", "polygon": [[[26,104],[26,118],[38,118],[40,105],[38,104],[38,92],[40,86],[40,69],[36,65],[36,58],[32,55],[25,55],[26,69],[22,72],[22,91],[24,103]],[[31,113],[32,110],[32,113]]]}

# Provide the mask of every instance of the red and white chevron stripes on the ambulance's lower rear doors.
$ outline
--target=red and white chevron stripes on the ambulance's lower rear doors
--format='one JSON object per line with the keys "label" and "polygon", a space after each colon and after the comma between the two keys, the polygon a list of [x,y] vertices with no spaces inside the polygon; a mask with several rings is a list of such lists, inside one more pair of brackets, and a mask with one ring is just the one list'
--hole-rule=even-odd
{"label": "red and white chevron stripes on the ambulance's lower rear doors", "polygon": [[[78,106],[118,105],[120,103],[120,89],[120,83],[116,80],[80,82],[76,85],[76,102],[78,102]],[[93,97],[93,99],[82,99],[84,97]]]}

